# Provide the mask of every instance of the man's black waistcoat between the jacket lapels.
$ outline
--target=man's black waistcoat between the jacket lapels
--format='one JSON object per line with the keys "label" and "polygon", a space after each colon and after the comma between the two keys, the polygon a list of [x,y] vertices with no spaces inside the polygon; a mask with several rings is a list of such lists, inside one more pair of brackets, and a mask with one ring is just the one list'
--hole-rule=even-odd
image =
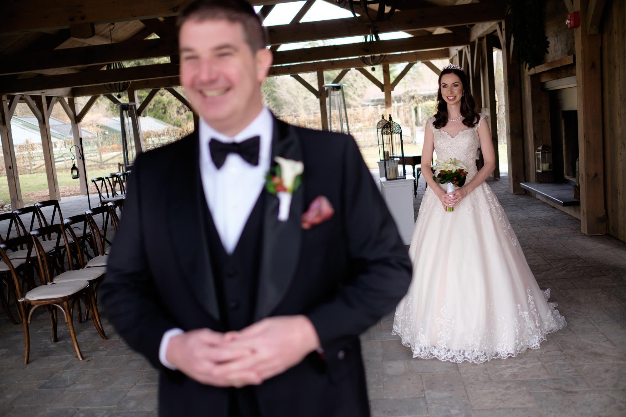
{"label": "man's black waistcoat between the jacket lapels", "polygon": [[[259,285],[264,194],[261,192],[239,242],[230,255],[224,249],[220,235],[215,229],[213,217],[205,205],[209,255],[223,331],[241,330],[252,324]],[[229,417],[260,416],[254,387],[231,388],[229,391]]]}

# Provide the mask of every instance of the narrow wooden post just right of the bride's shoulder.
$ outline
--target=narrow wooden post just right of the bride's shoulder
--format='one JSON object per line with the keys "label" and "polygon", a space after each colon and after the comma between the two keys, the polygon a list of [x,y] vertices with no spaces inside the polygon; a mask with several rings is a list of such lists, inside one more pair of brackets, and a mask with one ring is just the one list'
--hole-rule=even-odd
{"label": "narrow wooden post just right of the bride's shoulder", "polygon": [[493,39],[485,36],[483,39],[483,67],[481,70],[483,80],[483,114],[489,116],[491,138],[496,152],[496,166],[491,174],[495,180],[500,179],[500,161],[498,159],[498,118],[496,113],[496,85],[493,71]]}

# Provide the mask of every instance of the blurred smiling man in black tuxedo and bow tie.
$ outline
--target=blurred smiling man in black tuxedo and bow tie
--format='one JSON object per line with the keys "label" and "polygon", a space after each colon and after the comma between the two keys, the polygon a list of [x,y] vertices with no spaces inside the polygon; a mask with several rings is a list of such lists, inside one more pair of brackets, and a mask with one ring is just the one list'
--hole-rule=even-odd
{"label": "blurred smiling man in black tuxedo and bow tie", "polygon": [[160,370],[162,416],[368,416],[359,334],[411,280],[351,136],[264,107],[266,44],[244,0],[189,6],[180,81],[198,129],[130,177],[100,300]]}

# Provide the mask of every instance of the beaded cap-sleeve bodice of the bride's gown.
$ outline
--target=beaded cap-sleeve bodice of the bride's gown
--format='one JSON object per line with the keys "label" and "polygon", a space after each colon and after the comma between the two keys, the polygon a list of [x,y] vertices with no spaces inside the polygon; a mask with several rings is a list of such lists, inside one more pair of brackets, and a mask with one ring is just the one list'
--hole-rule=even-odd
{"label": "beaded cap-sleeve bodice of the bride's gown", "polygon": [[478,170],[476,169],[476,157],[478,157],[478,126],[486,118],[485,115],[478,113],[480,120],[473,128],[466,128],[459,131],[456,136],[450,136],[443,129],[436,129],[433,126],[434,116],[429,118],[429,126],[434,133],[434,152],[437,153],[438,159],[446,160],[448,158],[456,158],[468,167],[469,182]]}

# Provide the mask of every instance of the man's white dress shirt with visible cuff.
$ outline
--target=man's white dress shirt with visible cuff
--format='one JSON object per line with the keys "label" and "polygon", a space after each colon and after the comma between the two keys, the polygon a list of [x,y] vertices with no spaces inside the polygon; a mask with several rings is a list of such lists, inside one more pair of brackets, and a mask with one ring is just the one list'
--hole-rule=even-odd
{"label": "man's white dress shirt with visible cuff", "polygon": [[[273,134],[274,118],[267,107],[264,107],[252,123],[233,138],[223,135],[202,118],[200,119],[198,125],[200,155],[198,157],[200,158],[202,188],[215,229],[228,254],[232,254],[237,247],[245,224],[265,187],[265,175],[270,168]],[[260,136],[259,165],[250,165],[236,153],[229,153],[224,165],[220,169],[215,167],[208,148],[211,138],[224,143],[240,143],[257,135]],[[170,329],[163,334],[159,346],[159,360],[167,368],[176,369],[168,363],[165,357],[167,345],[173,336],[182,333],[182,329]]]}

